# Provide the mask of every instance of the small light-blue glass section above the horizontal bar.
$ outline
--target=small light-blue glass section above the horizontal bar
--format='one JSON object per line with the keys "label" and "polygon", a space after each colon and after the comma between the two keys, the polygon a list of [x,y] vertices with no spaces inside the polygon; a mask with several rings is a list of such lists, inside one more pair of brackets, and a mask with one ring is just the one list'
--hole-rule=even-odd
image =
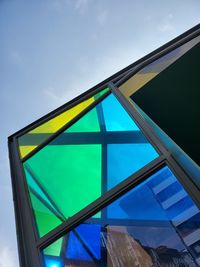
{"label": "small light-blue glass section above the horizontal bar", "polygon": [[139,131],[114,95],[107,97],[102,107],[107,131]]}

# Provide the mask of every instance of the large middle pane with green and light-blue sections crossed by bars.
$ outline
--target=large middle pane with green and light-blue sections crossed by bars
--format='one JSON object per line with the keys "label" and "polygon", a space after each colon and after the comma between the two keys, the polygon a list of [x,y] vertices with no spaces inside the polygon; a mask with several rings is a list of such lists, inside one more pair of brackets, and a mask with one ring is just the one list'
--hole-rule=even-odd
{"label": "large middle pane with green and light-blue sections crossed by bars", "polygon": [[[117,110],[117,116],[107,112],[108,106]],[[31,192],[56,216],[53,222],[46,221],[46,232],[156,157],[156,150],[110,94],[24,163],[29,190],[34,180],[40,189]],[[32,207],[37,212],[33,201]],[[36,222],[41,223],[37,216]],[[45,234],[41,228],[38,225],[40,236]]]}

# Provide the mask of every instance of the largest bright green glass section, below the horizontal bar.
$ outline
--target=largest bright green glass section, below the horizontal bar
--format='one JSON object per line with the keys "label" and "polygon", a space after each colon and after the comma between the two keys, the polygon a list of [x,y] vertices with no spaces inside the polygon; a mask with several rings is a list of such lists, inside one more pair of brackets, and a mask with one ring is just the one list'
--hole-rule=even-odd
{"label": "largest bright green glass section, below the horizontal bar", "polygon": [[28,164],[66,217],[101,194],[101,145],[47,146]]}

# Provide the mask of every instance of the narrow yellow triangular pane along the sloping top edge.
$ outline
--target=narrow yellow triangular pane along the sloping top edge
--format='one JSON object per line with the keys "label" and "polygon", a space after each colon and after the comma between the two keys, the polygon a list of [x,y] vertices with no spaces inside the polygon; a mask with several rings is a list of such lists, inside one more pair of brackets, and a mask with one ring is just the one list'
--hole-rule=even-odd
{"label": "narrow yellow triangular pane along the sloping top edge", "polygon": [[52,134],[57,132],[66,123],[75,118],[79,113],[81,113],[85,108],[92,104],[95,100],[105,94],[109,89],[106,88],[101,92],[97,93],[93,97],[81,102],[80,104],[74,106],[71,109],[66,110],[60,115],[54,117],[53,119],[43,123],[27,134],[19,137],[19,150],[21,158],[28,155],[32,150],[34,150],[38,145],[43,143]]}

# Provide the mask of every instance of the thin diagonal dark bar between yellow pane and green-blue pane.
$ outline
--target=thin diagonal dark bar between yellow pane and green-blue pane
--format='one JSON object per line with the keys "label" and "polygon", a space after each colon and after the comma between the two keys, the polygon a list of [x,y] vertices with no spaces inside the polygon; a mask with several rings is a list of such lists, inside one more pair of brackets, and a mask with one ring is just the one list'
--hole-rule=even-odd
{"label": "thin diagonal dark bar between yellow pane and green-blue pane", "polygon": [[25,162],[30,157],[35,155],[38,151],[40,151],[43,147],[48,145],[53,139],[55,139],[59,134],[61,134],[63,131],[68,129],[70,126],[72,126],[75,122],[77,122],[81,117],[83,117],[87,112],[89,112],[91,109],[93,109],[99,102],[101,102],[104,98],[106,98],[110,94],[110,90],[106,92],[104,95],[99,97],[97,100],[95,100],[93,103],[91,103],[87,108],[85,108],[83,111],[81,111],[75,118],[67,122],[62,128],[60,128],[57,132],[53,133],[47,140],[45,140],[42,144],[38,145],[34,150],[32,150],[27,156],[21,159],[21,162]]}

